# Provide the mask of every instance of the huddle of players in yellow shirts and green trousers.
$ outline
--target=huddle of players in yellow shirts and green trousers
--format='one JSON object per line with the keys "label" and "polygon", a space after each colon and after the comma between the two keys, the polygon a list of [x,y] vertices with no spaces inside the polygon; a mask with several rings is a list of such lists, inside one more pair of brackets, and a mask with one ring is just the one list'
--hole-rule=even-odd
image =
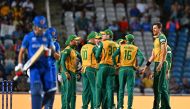
{"label": "huddle of players in yellow shirts and green trousers", "polygon": [[[87,44],[83,45],[80,54],[74,49],[77,46],[79,37],[71,35],[66,41],[68,45],[61,52],[61,59],[58,62],[62,75],[62,109],[75,109],[76,100],[76,61],[82,62],[82,109],[88,109],[91,102],[91,109],[123,109],[124,90],[127,84],[128,109],[132,108],[133,89],[135,85],[135,70],[144,74],[149,69],[152,61],[155,62],[154,71],[154,107],[159,109],[162,99],[163,109],[170,109],[168,82],[166,73],[169,73],[171,58],[166,61],[167,40],[161,33],[161,24],[153,25],[155,38],[152,56],[146,66],[141,69],[144,56],[141,50],[134,44],[135,36],[128,34],[126,39],[112,40],[113,32],[110,29],[100,33],[91,32],[87,36]],[[171,52],[170,52],[171,53]],[[118,71],[118,73],[116,73]],[[153,74],[148,74],[153,75]],[[114,90],[117,90],[117,106],[114,104]],[[160,96],[162,98],[160,98]]]}

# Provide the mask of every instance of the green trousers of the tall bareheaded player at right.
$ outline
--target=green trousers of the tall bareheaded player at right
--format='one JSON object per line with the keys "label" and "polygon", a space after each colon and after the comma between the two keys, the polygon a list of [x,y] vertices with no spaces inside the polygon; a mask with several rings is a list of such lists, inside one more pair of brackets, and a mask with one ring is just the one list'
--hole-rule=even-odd
{"label": "green trousers of the tall bareheaded player at right", "polygon": [[154,67],[154,82],[153,82],[153,89],[154,89],[154,104],[153,109],[159,109],[159,104],[161,100],[165,103],[165,109],[171,109],[169,104],[169,95],[168,95],[168,86],[166,80],[166,69],[167,63],[164,62],[160,72],[156,72],[156,68],[159,62],[155,62]]}

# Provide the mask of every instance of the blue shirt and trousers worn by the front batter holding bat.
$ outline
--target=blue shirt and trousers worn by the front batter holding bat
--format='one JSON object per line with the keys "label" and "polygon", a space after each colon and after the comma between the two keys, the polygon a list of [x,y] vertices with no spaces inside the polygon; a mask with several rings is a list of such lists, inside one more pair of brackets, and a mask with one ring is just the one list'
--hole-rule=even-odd
{"label": "blue shirt and trousers worn by the front batter holding bat", "polygon": [[[27,49],[28,58],[31,58],[42,44],[48,48],[53,46],[51,37],[48,35],[37,36],[34,31],[32,31],[24,37],[21,47]],[[56,83],[50,71],[51,67],[49,61],[50,57],[42,55],[30,67],[30,89],[33,109],[41,109],[42,91],[48,92],[52,90],[52,88],[56,88]]]}

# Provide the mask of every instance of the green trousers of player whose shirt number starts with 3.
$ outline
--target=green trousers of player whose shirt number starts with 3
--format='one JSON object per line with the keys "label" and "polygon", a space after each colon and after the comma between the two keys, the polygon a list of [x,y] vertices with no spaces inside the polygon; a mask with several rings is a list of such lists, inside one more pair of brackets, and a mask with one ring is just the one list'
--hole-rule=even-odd
{"label": "green trousers of player whose shirt number starts with 3", "polygon": [[[105,102],[106,99],[106,107],[107,109],[112,108],[113,105],[113,79],[114,79],[115,69],[111,65],[100,64],[99,70],[97,72],[96,77],[96,108],[99,108],[101,103]],[[103,93],[104,92],[104,93]],[[103,95],[105,94],[105,95]],[[104,109],[104,108],[103,108]]]}

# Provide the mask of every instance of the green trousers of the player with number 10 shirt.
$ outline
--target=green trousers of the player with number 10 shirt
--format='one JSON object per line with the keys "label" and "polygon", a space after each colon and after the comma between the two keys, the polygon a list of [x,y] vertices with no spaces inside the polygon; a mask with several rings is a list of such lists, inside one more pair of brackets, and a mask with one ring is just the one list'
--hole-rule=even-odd
{"label": "green trousers of the player with number 10 shirt", "polygon": [[87,67],[85,72],[82,73],[82,102],[83,109],[88,109],[88,104],[91,101],[91,108],[95,107],[96,95],[95,95],[95,85],[96,85],[96,69]]}

